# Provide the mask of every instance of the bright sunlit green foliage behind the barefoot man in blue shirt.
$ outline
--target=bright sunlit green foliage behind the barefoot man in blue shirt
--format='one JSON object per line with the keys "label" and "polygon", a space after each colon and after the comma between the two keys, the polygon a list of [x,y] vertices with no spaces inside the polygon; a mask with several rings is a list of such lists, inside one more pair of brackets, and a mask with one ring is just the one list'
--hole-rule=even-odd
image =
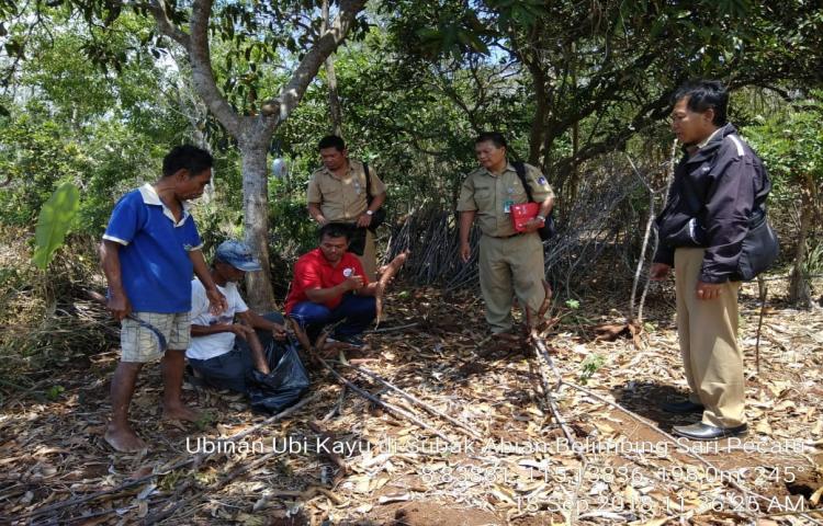
{"label": "bright sunlit green foliage behind the barefoot man in blue shirt", "polygon": [[[134,52],[149,25],[123,16],[108,34],[110,53],[128,60],[120,72],[95,67],[83,55],[101,38],[54,12],[49,31],[27,38],[30,60],[18,66],[0,117],[2,221],[32,225],[61,182],[81,188],[77,228],[99,235],[114,198],[159,174],[168,149],[191,140],[183,110],[168,102],[179,82],[173,61]],[[226,171],[224,174],[228,174]]]}

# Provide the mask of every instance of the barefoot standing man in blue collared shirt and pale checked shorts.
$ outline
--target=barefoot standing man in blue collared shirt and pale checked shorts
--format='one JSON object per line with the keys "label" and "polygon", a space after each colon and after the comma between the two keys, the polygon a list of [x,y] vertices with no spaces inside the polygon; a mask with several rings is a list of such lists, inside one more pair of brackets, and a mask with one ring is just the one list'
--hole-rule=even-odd
{"label": "barefoot standing man in blue collared shirt and pale checked shorts", "polygon": [[162,160],[162,178],[124,195],[100,245],[109,309],[121,321],[122,356],[112,378],[112,420],[105,441],[119,451],[146,444],[128,424],[128,405],[143,364],[162,358],[164,415],[196,421],[180,398],[189,346],[191,278],[196,274],[215,313],[226,308],[206,266],[188,199],[212,180],[212,156],[178,146]]}

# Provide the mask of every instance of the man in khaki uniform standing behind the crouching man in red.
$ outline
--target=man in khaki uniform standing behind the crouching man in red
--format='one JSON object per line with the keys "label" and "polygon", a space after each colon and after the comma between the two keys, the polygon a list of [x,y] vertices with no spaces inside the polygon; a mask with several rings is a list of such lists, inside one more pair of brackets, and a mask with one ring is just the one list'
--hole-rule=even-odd
{"label": "man in khaki uniform standing behind the crouching man in red", "polygon": [[367,199],[367,178],[363,163],[349,159],[346,142],[336,135],[324,137],[318,148],[323,168],[312,174],[308,181],[308,213],[320,226],[327,222],[353,225],[365,235],[360,263],[370,281],[374,281],[377,270],[377,254],[374,248],[374,232],[369,229],[372,216],[386,199],[386,186],[373,167],[369,167],[372,202]]}

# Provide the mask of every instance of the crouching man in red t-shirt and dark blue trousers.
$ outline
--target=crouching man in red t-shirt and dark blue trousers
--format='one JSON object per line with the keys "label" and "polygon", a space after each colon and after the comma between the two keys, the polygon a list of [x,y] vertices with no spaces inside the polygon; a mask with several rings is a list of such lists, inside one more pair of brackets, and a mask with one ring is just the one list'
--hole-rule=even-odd
{"label": "crouching man in red t-shirt and dark blue trousers", "polygon": [[360,260],[347,252],[351,228],[329,222],[320,228],[320,245],[294,265],[285,312],[314,339],[324,325],[342,323],[332,338],[362,345],[360,334],[376,316],[379,283],[369,283]]}

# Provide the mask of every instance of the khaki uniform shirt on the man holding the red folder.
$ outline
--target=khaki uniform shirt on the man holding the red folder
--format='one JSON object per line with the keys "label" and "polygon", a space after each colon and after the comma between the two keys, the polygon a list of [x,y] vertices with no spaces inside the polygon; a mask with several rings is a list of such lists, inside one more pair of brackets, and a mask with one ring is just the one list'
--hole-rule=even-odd
{"label": "khaki uniform shirt on the man holding the red folder", "polygon": [[[541,203],[553,196],[552,187],[540,170],[526,164],[526,181],[529,183],[532,198]],[[470,173],[460,188],[458,211],[476,210],[477,224],[486,236],[503,238],[517,233],[511,224],[511,215],[505,211],[506,202],[518,205],[528,203],[520,178],[511,163],[499,175],[495,175],[485,168],[478,168]]]}

